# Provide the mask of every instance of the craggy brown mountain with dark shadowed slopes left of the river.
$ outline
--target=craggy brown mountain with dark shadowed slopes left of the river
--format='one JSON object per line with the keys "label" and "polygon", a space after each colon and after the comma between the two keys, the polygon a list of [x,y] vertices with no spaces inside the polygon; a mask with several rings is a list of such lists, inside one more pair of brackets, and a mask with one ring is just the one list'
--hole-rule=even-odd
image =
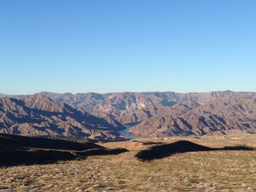
{"label": "craggy brown mountain with dark shadowed slopes left of the river", "polygon": [[45,137],[116,139],[106,120],[42,95],[0,99],[0,133]]}

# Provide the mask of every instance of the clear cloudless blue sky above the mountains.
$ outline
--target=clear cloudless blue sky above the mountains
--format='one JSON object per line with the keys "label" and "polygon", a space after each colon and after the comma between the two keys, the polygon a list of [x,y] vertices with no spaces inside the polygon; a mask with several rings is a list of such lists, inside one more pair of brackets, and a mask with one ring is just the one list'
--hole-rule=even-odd
{"label": "clear cloudless blue sky above the mountains", "polygon": [[0,93],[256,91],[256,1],[0,1]]}

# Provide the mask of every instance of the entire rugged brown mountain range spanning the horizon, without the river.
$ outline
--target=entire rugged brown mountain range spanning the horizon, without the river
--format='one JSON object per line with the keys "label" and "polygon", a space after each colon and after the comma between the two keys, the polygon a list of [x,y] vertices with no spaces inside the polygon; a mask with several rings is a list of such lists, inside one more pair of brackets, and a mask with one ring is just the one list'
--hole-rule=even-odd
{"label": "entire rugged brown mountain range spanning the horizon, without the river", "polygon": [[2,133],[116,139],[127,125],[138,137],[253,134],[256,93],[41,92],[0,99]]}

